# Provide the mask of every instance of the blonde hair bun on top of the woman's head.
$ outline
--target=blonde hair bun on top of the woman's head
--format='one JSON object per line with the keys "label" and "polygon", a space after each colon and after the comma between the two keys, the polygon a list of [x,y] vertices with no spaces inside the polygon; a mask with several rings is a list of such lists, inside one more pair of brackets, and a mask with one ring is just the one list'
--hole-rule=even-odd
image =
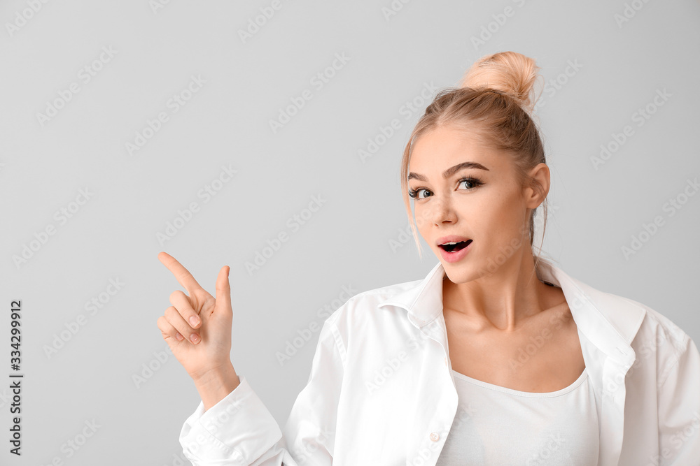
{"label": "blonde hair bun on top of the woman's head", "polygon": [[[534,85],[540,67],[535,60],[517,52],[497,52],[484,55],[472,64],[460,82],[460,87],[494,89],[510,95],[528,115],[532,115],[538,96]],[[541,93],[541,91],[540,91]]]}

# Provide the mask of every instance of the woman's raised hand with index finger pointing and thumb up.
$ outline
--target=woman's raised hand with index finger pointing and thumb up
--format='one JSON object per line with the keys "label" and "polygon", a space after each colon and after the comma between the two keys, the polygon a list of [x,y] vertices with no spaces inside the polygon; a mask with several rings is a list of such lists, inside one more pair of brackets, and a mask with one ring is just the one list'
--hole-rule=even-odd
{"label": "woman's raised hand with index finger pointing and thumb up", "polygon": [[228,282],[230,268],[224,265],[219,271],[214,298],[173,256],[160,252],[158,259],[189,293],[188,296],[181,290],[173,291],[170,295],[172,306],[158,317],[158,328],[173,355],[195,382],[230,374],[233,370],[230,358],[233,319]]}

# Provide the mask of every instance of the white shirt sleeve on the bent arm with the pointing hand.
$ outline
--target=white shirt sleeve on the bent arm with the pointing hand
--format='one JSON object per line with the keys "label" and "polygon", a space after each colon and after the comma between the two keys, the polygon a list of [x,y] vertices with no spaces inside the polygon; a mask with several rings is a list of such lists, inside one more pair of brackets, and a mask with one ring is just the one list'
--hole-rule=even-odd
{"label": "white shirt sleeve on the bent arm with the pointing hand", "polygon": [[323,323],[307,385],[282,432],[246,377],[204,412],[200,404],[180,432],[194,466],[331,465],[345,346],[333,314]]}

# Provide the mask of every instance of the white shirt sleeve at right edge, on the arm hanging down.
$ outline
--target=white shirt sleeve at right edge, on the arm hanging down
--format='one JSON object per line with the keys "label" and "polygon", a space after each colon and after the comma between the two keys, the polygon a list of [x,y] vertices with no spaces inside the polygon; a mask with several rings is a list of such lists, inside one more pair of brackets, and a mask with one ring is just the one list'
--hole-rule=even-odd
{"label": "white shirt sleeve at right edge, on the arm hanging down", "polygon": [[685,345],[659,381],[659,456],[661,465],[696,465],[700,458],[700,352]]}

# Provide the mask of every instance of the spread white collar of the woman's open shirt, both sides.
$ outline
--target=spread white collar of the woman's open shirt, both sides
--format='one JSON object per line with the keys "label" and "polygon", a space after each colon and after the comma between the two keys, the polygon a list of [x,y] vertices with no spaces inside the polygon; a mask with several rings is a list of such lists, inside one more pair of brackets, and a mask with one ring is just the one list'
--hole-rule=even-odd
{"label": "spread white collar of the woman's open shirt, both sides", "polygon": [[[594,289],[547,259],[540,258],[535,270],[539,279],[561,288],[577,327],[594,346],[622,365],[633,363],[631,342],[646,314],[639,303]],[[444,277],[444,267],[438,261],[424,279],[407,282],[379,307],[401,307],[408,311],[409,321],[421,328],[442,313]]]}

